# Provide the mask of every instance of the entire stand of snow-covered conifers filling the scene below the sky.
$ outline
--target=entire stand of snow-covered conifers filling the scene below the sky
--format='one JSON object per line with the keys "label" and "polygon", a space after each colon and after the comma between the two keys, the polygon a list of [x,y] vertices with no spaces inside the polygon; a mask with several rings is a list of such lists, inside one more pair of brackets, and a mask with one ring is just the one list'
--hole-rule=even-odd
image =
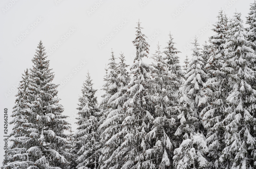
{"label": "entire stand of snow-covered conifers filling the scene below the sky", "polygon": [[140,22],[133,64],[111,52],[97,101],[88,73],[78,99],[78,128],[58,104],[58,85],[39,42],[23,74],[13,110],[13,144],[4,169],[254,168],[256,166],[256,2],[241,14],[223,11],[209,44],[181,67],[169,34],[149,56]]}

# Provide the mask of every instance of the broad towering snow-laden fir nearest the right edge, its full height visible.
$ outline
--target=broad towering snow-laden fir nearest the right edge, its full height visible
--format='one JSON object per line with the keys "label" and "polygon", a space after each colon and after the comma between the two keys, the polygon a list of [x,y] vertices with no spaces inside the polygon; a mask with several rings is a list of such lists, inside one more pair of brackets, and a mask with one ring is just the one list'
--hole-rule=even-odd
{"label": "broad towering snow-laden fir nearest the right edge, its full height visible", "polygon": [[255,144],[255,52],[244,31],[241,13],[229,23],[228,41],[222,67],[228,76],[228,107],[221,121],[225,148],[219,158],[221,168],[252,168],[256,164]]}

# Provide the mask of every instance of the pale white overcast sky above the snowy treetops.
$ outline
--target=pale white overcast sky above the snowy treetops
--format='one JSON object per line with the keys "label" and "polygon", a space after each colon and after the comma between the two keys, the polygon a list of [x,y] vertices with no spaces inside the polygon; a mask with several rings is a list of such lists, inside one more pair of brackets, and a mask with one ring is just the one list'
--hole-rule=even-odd
{"label": "pale white overcast sky above the snowy treetops", "polygon": [[[31,59],[40,40],[46,52],[51,53],[48,59],[50,68],[55,72],[53,82],[66,82],[58,96],[65,108],[64,114],[71,117],[68,120],[74,131],[77,128],[74,115],[77,113],[78,98],[88,70],[94,88],[100,89],[111,48],[116,57],[122,51],[126,63],[133,63],[135,47],[132,41],[138,19],[144,28],[142,33],[149,38],[150,56],[155,53],[158,42],[162,48],[166,47],[170,32],[177,43],[177,49],[182,52],[179,57],[183,64],[185,55],[191,58],[191,39],[197,36],[202,47],[204,41],[214,34],[211,24],[217,21],[220,9],[228,17],[232,17],[235,11],[242,13],[245,22],[250,3],[253,0],[1,0],[0,138],[4,139],[4,108],[8,108],[10,115],[15,104],[16,84],[24,70],[32,67]],[[244,24],[244,27],[247,25]],[[99,44],[103,46],[99,47]],[[150,59],[145,60],[151,63]],[[98,92],[98,97],[101,94]],[[8,122],[10,120],[11,117]],[[12,126],[9,126],[8,133],[11,129]],[[1,162],[4,154],[3,139],[0,141]]]}

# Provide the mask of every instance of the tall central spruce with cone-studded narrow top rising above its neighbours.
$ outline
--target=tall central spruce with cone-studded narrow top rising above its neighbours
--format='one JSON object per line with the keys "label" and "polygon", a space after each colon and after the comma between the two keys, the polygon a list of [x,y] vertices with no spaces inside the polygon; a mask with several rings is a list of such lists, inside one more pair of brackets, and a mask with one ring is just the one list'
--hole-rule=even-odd
{"label": "tall central spruce with cone-studded narrow top rising above its neighbours", "polygon": [[131,66],[131,80],[128,84],[127,93],[129,99],[124,103],[127,107],[120,136],[121,141],[120,156],[124,158],[122,168],[150,168],[151,161],[144,160],[144,152],[148,149],[149,143],[145,140],[146,133],[152,126],[148,126],[150,120],[153,120],[152,104],[148,95],[150,79],[148,72],[150,66],[142,61],[149,53],[149,45],[145,40],[145,35],[141,33],[140,22],[136,27],[136,38],[133,41],[136,47],[136,57]]}

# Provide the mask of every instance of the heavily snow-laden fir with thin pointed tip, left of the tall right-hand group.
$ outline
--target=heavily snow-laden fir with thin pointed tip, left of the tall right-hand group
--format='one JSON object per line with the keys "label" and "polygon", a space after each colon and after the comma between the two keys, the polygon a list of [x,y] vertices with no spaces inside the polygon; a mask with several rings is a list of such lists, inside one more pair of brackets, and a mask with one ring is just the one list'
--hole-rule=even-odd
{"label": "heavily snow-laden fir with thin pointed tip, left of the tall right-hand group", "polygon": [[206,159],[208,147],[202,133],[202,124],[199,114],[203,108],[202,95],[206,73],[202,70],[204,61],[199,44],[195,39],[192,58],[188,64],[185,82],[180,88],[179,127],[175,135],[180,137],[179,148],[174,150],[174,166],[176,168],[206,168],[209,162]]}

